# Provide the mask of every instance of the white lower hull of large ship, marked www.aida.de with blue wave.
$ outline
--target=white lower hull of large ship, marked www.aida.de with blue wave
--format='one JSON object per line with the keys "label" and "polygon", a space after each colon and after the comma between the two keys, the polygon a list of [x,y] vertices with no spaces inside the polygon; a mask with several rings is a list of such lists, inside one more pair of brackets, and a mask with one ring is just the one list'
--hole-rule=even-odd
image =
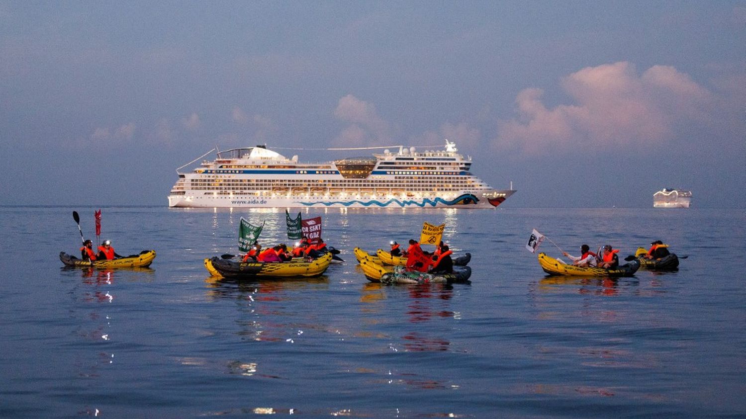
{"label": "white lower hull of large ship, marked www.aida.de with blue wave", "polygon": [[[176,208],[495,208],[515,191],[502,190],[474,194],[463,192],[455,196],[428,197],[331,197],[331,196],[262,196],[234,195],[169,195],[169,207]],[[479,195],[479,196],[477,196]],[[476,197],[476,199],[474,199]]]}

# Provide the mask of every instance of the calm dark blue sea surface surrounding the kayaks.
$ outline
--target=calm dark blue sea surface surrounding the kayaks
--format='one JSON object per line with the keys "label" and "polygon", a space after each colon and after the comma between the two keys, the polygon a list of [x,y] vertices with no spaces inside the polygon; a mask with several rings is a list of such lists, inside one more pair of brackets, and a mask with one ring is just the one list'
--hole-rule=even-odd
{"label": "calm dark blue sea surface surrounding the kayaks", "polygon": [[[94,208],[0,207],[0,417],[746,416],[742,209],[509,204],[308,209],[345,263],[260,283],[210,280],[202,259],[237,252],[241,216],[288,242],[283,210],[104,207],[101,240],[157,257],[87,271],[57,255],[79,253],[73,209],[93,236]],[[352,248],[417,239],[423,221],[471,252],[471,285],[369,283]],[[570,253],[661,239],[689,257],[674,273],[546,277],[532,228]]]}

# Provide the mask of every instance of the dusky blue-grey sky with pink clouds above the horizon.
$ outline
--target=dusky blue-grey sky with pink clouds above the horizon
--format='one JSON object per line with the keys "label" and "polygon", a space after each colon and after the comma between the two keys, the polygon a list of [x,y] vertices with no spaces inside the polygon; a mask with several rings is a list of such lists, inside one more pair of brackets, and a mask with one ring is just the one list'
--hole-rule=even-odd
{"label": "dusky blue-grey sky with pink clouds above the horizon", "polygon": [[505,206],[746,208],[746,0],[0,0],[0,205],[166,206],[214,147],[444,139]]}

